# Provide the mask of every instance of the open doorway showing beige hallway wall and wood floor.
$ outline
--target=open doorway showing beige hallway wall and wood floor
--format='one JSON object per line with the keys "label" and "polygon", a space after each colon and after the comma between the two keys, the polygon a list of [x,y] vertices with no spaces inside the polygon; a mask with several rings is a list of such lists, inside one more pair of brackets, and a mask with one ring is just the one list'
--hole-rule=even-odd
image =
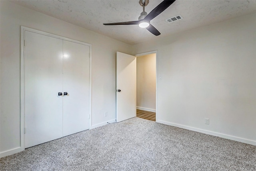
{"label": "open doorway showing beige hallway wall and wood floor", "polygon": [[156,51],[136,55],[136,116],[156,121]]}

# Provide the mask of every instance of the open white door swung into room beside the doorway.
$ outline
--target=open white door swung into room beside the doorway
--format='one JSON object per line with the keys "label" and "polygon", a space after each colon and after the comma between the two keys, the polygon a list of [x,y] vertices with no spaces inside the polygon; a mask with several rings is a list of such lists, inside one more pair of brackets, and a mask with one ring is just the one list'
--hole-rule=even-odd
{"label": "open white door swung into room beside the doorway", "polygon": [[[116,121],[136,116],[135,56],[116,53]],[[121,91],[119,91],[121,90]]]}

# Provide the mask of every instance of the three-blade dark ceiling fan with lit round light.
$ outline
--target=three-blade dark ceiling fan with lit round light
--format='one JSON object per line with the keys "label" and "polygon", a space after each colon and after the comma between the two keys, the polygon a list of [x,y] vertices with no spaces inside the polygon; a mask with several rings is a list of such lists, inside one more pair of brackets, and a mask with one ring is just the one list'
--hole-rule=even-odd
{"label": "three-blade dark ceiling fan with lit round light", "polygon": [[140,0],[140,5],[143,7],[143,12],[140,13],[138,21],[130,22],[118,22],[118,23],[104,23],[104,25],[138,25],[141,28],[146,28],[154,35],[160,35],[161,33],[150,24],[150,20],[161,14],[166,8],[172,5],[175,0],[164,0],[156,8],[154,8],[149,14],[145,12],[145,6],[148,5],[149,0]]}

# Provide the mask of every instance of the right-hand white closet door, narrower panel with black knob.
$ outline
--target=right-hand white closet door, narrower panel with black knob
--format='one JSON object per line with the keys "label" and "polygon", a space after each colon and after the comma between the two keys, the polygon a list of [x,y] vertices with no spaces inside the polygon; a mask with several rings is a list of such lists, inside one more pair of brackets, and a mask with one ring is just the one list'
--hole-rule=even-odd
{"label": "right-hand white closet door, narrower panel with black knob", "polygon": [[63,136],[89,129],[89,52],[63,41]]}

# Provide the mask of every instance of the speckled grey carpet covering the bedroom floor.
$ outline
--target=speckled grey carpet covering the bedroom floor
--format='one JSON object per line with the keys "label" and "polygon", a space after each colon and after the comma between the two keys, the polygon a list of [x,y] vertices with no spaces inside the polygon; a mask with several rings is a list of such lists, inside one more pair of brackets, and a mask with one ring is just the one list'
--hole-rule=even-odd
{"label": "speckled grey carpet covering the bedroom floor", "polygon": [[256,171],[256,146],[131,118],[0,159],[1,171]]}

